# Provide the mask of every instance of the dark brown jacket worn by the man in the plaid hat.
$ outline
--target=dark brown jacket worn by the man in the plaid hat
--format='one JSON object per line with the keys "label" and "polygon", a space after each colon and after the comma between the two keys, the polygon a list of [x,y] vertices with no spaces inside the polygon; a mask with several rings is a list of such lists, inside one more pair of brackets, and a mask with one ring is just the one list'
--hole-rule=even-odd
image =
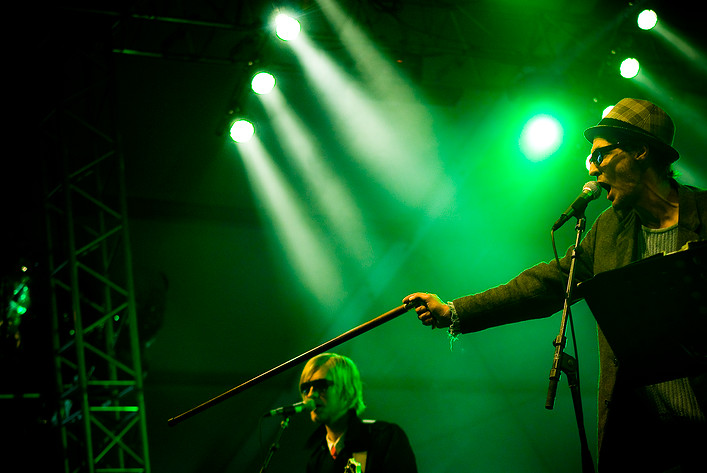
{"label": "dark brown jacket worn by the man in the plaid hat", "polygon": [[[678,186],[679,247],[688,241],[707,240],[707,192]],[[641,222],[635,211],[620,216],[613,208],[605,210],[594,222],[580,244],[575,280],[585,281],[595,274],[620,268],[636,261],[638,234]],[[541,263],[522,272],[516,278],[480,294],[454,300],[462,333],[476,332],[489,327],[550,316],[562,309],[569,271],[571,249],[560,260],[562,272],[554,261]],[[607,429],[614,428],[613,408],[615,386],[620,380],[618,361],[604,335],[599,330],[600,379],[598,393],[598,435],[600,464],[604,451],[615,450],[604,442]],[[704,376],[702,377],[704,378]],[[703,379],[694,378],[693,388],[701,399],[703,412],[707,412]],[[629,420],[630,419],[630,420]],[[627,418],[625,422],[633,422]],[[618,422],[618,421],[617,421]],[[617,426],[618,430],[635,430]],[[616,437],[612,437],[616,440]],[[625,439],[624,439],[625,440]]]}

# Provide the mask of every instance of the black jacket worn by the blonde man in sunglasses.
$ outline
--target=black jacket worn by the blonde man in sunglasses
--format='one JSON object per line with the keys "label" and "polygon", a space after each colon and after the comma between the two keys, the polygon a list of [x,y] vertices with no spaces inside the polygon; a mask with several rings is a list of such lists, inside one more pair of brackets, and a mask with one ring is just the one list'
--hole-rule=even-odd
{"label": "black jacket worn by the blonde man in sunglasses", "polygon": [[344,436],[344,449],[334,460],[326,442],[322,425],[307,442],[311,449],[307,473],[343,473],[355,452],[367,452],[366,473],[417,473],[415,454],[405,432],[396,424],[362,421],[349,411],[349,425]]}

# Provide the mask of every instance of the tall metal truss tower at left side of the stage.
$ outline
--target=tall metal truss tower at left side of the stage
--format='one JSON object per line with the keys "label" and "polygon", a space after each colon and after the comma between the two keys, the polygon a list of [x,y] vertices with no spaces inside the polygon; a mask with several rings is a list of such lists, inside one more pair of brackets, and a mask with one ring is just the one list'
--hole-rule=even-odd
{"label": "tall metal truss tower at left side of the stage", "polygon": [[63,470],[149,473],[112,55],[47,41],[61,48],[40,131]]}

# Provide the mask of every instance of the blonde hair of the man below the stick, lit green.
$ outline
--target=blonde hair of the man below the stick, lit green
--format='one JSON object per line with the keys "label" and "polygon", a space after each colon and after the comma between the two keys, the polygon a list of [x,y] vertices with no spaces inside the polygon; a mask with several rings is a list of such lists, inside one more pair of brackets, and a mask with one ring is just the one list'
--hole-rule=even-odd
{"label": "blonde hair of the man below the stick, lit green", "polygon": [[[341,399],[347,409],[355,409],[357,415],[366,409],[363,402],[363,384],[356,364],[349,357],[336,353],[322,353],[311,358],[300,375],[300,384],[309,381],[315,372],[327,367],[331,380],[341,391]],[[304,395],[302,396],[304,397]]]}

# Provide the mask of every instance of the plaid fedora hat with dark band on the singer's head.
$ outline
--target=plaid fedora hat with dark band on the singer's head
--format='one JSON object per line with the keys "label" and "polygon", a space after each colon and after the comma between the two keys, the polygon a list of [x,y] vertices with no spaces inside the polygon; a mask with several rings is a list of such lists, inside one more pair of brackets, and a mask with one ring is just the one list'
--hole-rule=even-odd
{"label": "plaid fedora hat with dark band on the singer's head", "polygon": [[652,144],[671,163],[680,157],[673,148],[673,120],[665,110],[647,100],[621,99],[596,126],[586,129],[584,136],[591,142],[607,131]]}

